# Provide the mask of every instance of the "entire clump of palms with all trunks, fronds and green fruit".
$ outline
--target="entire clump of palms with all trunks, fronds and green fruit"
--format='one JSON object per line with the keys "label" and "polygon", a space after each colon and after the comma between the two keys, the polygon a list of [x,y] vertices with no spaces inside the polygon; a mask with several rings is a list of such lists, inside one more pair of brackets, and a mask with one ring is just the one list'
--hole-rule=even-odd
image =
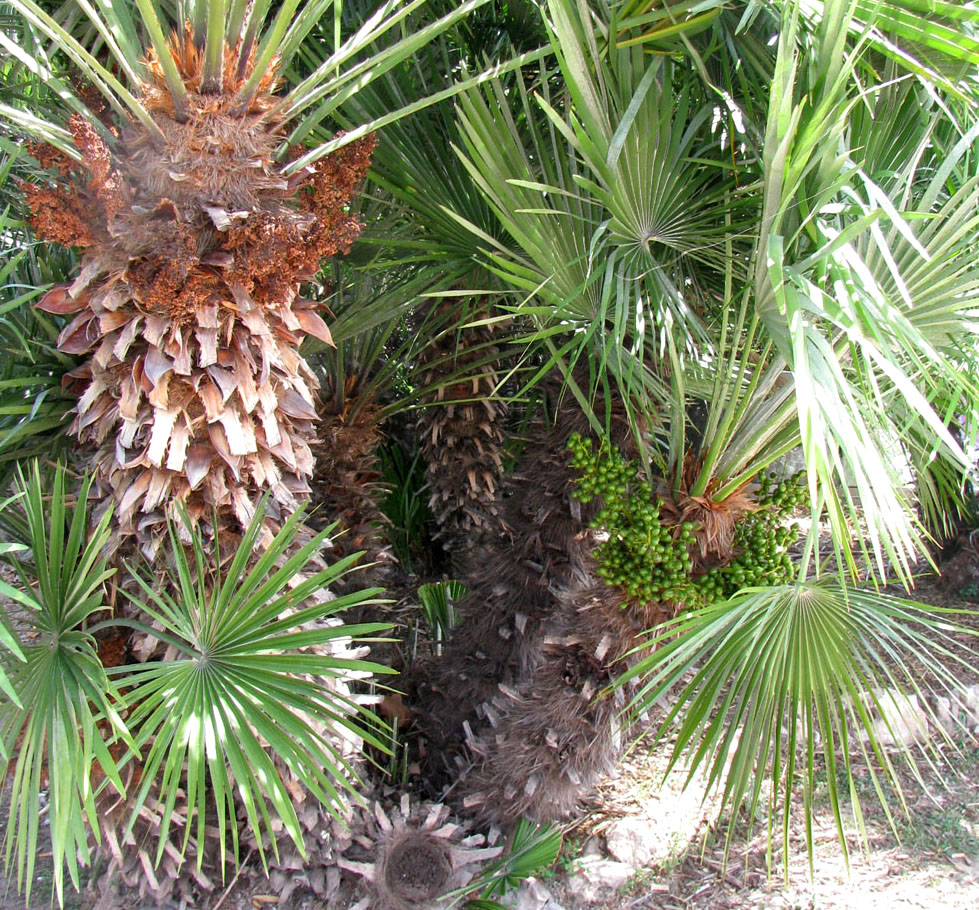
{"label": "entire clump of palms with all trunks, fronds and green fruit", "polygon": [[[23,520],[5,506],[22,882],[45,774],[76,878],[103,806],[133,881],[140,850],[166,875],[242,843],[293,862],[343,814],[334,734],[373,735],[346,680],[376,668],[333,650],[330,611],[375,592],[340,581],[346,554],[319,561],[329,532],[297,509],[312,492],[337,550],[377,556],[382,432],[428,465],[467,591],[429,610],[407,713],[429,795],[481,820],[573,813],[652,717],[729,811],[782,813],[785,844],[801,794],[810,855],[825,775],[846,849],[857,757],[891,811],[888,709],[958,698],[954,615],[883,589],[911,588],[970,496],[979,12],[544,0],[467,21],[482,3],[5,5],[2,198],[79,258],[31,271],[41,248],[4,215],[0,274],[37,287],[3,292],[0,341],[43,368],[0,375],[0,460],[73,402],[93,472],[74,512],[57,475],[53,523],[35,475]],[[132,543],[155,559],[110,615],[107,553]],[[81,600],[49,603],[62,589]],[[50,756],[62,729],[81,732]]]}

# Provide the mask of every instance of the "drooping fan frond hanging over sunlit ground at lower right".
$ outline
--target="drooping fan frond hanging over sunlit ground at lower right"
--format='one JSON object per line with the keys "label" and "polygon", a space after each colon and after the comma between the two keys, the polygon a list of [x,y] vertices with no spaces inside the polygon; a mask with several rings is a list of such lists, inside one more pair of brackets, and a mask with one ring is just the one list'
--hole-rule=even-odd
{"label": "drooping fan frond hanging over sunlit ground at lower right", "polygon": [[[869,772],[892,827],[895,797],[907,812],[896,759],[917,777],[916,755],[897,735],[898,723],[920,706],[921,722],[943,730],[928,707],[931,695],[958,713],[956,677],[973,663],[963,635],[975,633],[955,621],[955,611],[896,597],[825,583],[750,588],[660,626],[644,645],[654,646],[651,655],[617,685],[638,682],[629,706],[636,713],[680,687],[656,737],[675,736],[669,769],[683,760],[688,783],[703,773],[731,819],[742,810],[749,823],[767,815],[769,850],[780,818],[786,864],[801,791],[812,864],[822,787],[844,856],[847,803],[866,842],[858,765]],[[942,734],[941,742],[957,732],[965,729]],[[897,757],[887,740],[897,743]],[[732,822],[727,848],[734,829]]]}

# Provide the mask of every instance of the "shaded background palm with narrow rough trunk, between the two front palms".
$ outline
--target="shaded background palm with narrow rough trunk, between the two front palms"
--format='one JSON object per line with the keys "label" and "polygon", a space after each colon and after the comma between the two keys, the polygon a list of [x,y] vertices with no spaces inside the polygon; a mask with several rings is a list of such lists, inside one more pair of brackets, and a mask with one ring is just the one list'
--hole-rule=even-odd
{"label": "shaded background palm with narrow rough trunk, between the two front palms", "polygon": [[[400,301],[401,306],[387,308],[393,315],[410,313],[406,318],[413,343],[396,356],[411,394],[393,400],[388,395],[382,403],[383,388],[376,383],[366,382],[362,375],[356,382],[348,375],[347,382],[355,389],[371,390],[379,418],[418,409],[416,440],[410,444],[417,445],[424,458],[436,534],[454,563],[481,534],[499,529],[496,500],[507,406],[496,394],[501,345],[506,344],[495,306],[498,295],[470,298],[457,293],[489,278],[478,258],[481,241],[459,223],[459,214],[492,236],[500,229],[487,202],[458,166],[453,152],[458,132],[447,96],[458,91],[454,74],[465,76],[489,65],[484,63],[488,51],[494,64],[490,71],[498,75],[545,56],[543,29],[527,14],[526,4],[484,8],[416,55],[410,67],[392,70],[346,100],[337,113],[342,124],[353,126],[386,110],[417,106],[420,98],[443,99],[385,130],[368,178],[376,216],[368,220],[360,243],[360,249],[372,250],[374,257],[362,264],[353,283],[376,286],[378,301]],[[536,30],[526,28],[528,24]],[[520,48],[511,44],[511,33],[522,38]],[[492,48],[485,44],[489,35]],[[310,45],[305,55],[306,66],[314,67],[322,52]],[[485,74],[463,82],[471,85],[483,79]],[[339,387],[336,380],[331,385]],[[363,406],[349,394],[339,398],[360,415],[367,431],[361,435],[369,438]]]}

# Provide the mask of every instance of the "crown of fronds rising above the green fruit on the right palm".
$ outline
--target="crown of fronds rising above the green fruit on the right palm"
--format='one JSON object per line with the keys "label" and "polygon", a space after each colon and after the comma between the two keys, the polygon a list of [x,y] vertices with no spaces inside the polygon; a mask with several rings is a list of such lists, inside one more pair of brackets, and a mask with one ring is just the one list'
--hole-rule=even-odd
{"label": "crown of fronds rising above the green fruit on the right palm", "polygon": [[[871,571],[907,580],[925,538],[888,447],[920,469],[929,518],[956,501],[967,459],[944,422],[975,417],[977,197],[974,86],[922,62],[944,26],[905,6],[749,4],[739,20],[553,2],[567,95],[551,71],[469,92],[459,115],[509,235],[480,234],[485,260],[525,295],[549,364],[588,352],[644,413],[687,517],[706,532],[743,514],[745,484],[801,444],[838,564],[857,574],[863,522]],[[967,35],[943,48],[977,59]],[[924,100],[939,91],[952,119]]]}

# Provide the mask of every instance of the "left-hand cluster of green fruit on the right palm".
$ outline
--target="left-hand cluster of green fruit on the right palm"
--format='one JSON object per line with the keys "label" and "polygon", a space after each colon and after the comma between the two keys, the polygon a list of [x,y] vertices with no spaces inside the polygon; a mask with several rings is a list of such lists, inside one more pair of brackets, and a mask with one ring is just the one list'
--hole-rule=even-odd
{"label": "left-hand cluster of green fruit on the right palm", "polygon": [[654,497],[638,462],[606,441],[595,452],[592,441],[576,433],[568,448],[571,466],[583,472],[574,496],[583,503],[602,499],[592,521],[608,531],[595,548],[598,575],[642,603],[689,601],[696,594],[690,575],[695,525],[664,526],[663,500]]}

